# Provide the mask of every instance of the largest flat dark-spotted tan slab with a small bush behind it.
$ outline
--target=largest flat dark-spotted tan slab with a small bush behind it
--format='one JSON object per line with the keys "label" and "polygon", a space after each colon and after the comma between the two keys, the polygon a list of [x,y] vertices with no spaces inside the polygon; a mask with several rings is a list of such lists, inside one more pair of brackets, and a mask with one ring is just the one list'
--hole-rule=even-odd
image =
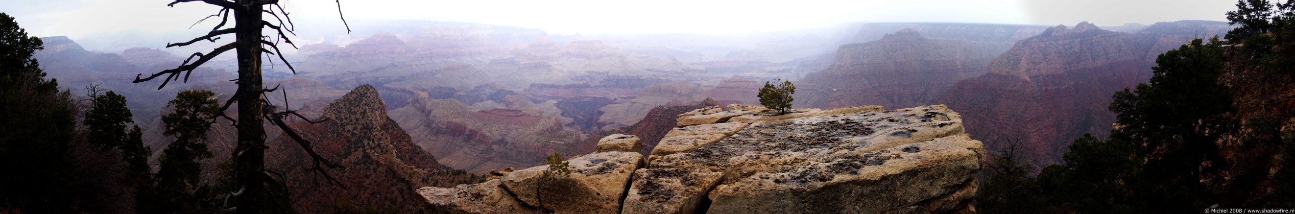
{"label": "largest flat dark-spotted tan slab with a small bush behind it", "polygon": [[984,152],[963,135],[961,115],[940,105],[875,110],[752,114],[756,123],[733,136],[651,166],[724,172],[708,193],[715,213],[962,209]]}

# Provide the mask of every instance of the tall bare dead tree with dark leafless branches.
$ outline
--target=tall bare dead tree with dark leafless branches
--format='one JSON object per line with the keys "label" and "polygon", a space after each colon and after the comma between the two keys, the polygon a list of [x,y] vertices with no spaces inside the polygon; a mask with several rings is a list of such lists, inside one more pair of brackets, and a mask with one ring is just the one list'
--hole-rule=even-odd
{"label": "tall bare dead tree with dark leafless branches", "polygon": [[[260,57],[263,54],[267,57],[278,56],[280,61],[287,65],[294,74],[297,73],[291,64],[287,62],[280,52],[281,44],[289,44],[293,45],[293,48],[297,47],[293,44],[293,40],[289,39],[289,35],[295,35],[295,26],[289,17],[290,13],[284,10],[284,6],[280,5],[278,0],[174,0],[167,5],[174,6],[175,4],[193,1],[219,6],[220,10],[207,18],[219,18],[220,23],[212,27],[212,30],[206,35],[193,38],[192,40],[183,43],[168,43],[166,45],[167,48],[190,45],[203,40],[215,43],[220,39],[220,36],[229,34],[233,34],[234,42],[220,45],[207,53],[193,53],[175,69],[154,73],[146,78],[144,78],[142,74],[137,75],[135,78],[135,83],[142,83],[164,77],[162,79],[162,84],[158,86],[158,89],[161,89],[171,80],[181,80],[181,74],[184,77],[183,80],[188,82],[189,74],[192,74],[198,66],[202,66],[211,58],[215,58],[228,51],[237,52],[238,79],[236,79],[236,83],[238,84],[238,89],[228,101],[224,102],[224,105],[215,115],[211,117],[208,122],[208,125],[216,123],[216,121],[224,118],[238,128],[238,147],[233,150],[233,158],[237,160],[236,178],[238,179],[240,191],[232,193],[237,196],[237,208],[232,209],[238,213],[262,213],[262,204],[264,201],[260,197],[265,196],[265,187],[282,187],[280,183],[275,182],[276,172],[265,170],[265,130],[262,126],[265,121],[269,121],[282,128],[287,136],[298,141],[306,153],[311,154],[315,161],[312,170],[315,170],[319,175],[322,175],[329,183],[341,185],[337,179],[329,175],[325,167],[337,169],[342,166],[333,163],[316,153],[313,148],[311,148],[311,143],[308,140],[298,135],[297,131],[291,130],[282,122],[282,118],[290,115],[300,117],[302,119],[306,118],[287,109],[284,112],[275,112],[275,106],[264,99],[265,93],[275,92],[278,87],[265,88],[262,84]],[[341,1],[338,0],[337,4],[338,14],[341,14]],[[273,19],[267,21],[269,17],[265,17],[265,14],[269,14]],[[207,18],[199,19],[198,22]],[[227,26],[231,18],[233,18],[234,26],[221,29]],[[342,19],[342,23],[346,25],[344,18]],[[262,30],[264,29],[276,31],[277,35],[273,39],[263,36]],[[350,26],[347,25],[347,32],[350,31]],[[224,110],[234,102],[238,102],[237,119],[224,114]],[[313,123],[316,121],[310,122]]]}

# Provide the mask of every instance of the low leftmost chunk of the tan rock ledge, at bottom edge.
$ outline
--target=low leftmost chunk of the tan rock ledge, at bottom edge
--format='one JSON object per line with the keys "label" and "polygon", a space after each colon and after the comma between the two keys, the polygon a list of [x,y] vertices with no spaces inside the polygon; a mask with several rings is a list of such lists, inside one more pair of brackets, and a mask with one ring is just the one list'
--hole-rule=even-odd
{"label": "low leftmost chunk of the tan rock ledge, at bottom edge", "polygon": [[453,188],[423,187],[418,189],[423,200],[438,213],[535,213],[513,197],[499,179],[479,184],[458,184]]}

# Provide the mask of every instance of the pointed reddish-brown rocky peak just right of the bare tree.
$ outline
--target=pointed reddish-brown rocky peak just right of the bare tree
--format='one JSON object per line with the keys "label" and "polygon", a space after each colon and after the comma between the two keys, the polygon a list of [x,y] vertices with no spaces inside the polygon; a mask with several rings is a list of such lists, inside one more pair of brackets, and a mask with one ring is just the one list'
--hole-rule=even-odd
{"label": "pointed reddish-brown rocky peak just right of the bare tree", "polygon": [[282,170],[293,208],[302,213],[328,213],[338,201],[360,208],[398,209],[417,213],[423,206],[416,187],[480,182],[462,170],[452,170],[413,144],[409,135],[387,118],[377,89],[361,86],[324,108],[329,121],[291,127],[313,143],[321,156],[344,166],[328,170],[346,189],[315,179],[310,156],[295,141],[280,136],[271,144],[267,167]]}

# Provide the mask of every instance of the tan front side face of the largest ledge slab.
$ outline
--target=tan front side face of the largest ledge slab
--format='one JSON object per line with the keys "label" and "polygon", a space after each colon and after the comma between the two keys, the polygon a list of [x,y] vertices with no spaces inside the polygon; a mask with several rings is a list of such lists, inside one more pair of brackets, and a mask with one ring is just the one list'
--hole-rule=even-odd
{"label": "tan front side face of the largest ledge slab", "polygon": [[710,192],[710,211],[951,211],[975,193],[983,156],[980,141],[956,135],[866,153],[813,157],[820,160],[724,182]]}

